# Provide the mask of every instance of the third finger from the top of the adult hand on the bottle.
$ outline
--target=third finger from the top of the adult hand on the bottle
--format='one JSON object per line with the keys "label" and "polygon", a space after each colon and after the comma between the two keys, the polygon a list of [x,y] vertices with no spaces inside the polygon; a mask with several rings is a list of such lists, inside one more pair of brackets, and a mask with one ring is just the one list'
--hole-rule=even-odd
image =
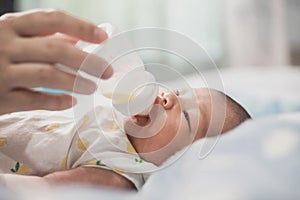
{"label": "third finger from the top of the adult hand on the bottle", "polygon": [[[10,88],[49,87],[74,91],[80,94],[91,94],[97,86],[94,82],[58,70],[55,66],[42,63],[22,63],[12,65],[6,72],[6,80],[12,80],[7,85]],[[76,80],[76,87],[74,83]]]}

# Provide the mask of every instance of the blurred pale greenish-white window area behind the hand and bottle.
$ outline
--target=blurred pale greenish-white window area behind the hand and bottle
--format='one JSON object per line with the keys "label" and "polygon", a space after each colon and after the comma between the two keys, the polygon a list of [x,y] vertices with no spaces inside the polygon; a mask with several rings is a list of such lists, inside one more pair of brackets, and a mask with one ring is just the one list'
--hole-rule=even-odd
{"label": "blurred pale greenish-white window area behind the hand and bottle", "polygon": [[[19,0],[20,10],[58,8],[121,30],[162,27],[181,32],[202,45],[217,63],[223,61],[222,0]],[[194,58],[201,56],[194,54]],[[168,58],[169,59],[169,58]]]}

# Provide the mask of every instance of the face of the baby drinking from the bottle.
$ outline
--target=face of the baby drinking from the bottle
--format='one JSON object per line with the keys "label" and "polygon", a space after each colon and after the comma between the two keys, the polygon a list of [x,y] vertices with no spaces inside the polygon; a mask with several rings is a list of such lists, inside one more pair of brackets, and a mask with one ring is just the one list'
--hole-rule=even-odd
{"label": "face of the baby drinking from the bottle", "polygon": [[157,165],[178,150],[204,137],[210,121],[208,89],[162,92],[149,116],[133,116],[124,127],[145,160]]}

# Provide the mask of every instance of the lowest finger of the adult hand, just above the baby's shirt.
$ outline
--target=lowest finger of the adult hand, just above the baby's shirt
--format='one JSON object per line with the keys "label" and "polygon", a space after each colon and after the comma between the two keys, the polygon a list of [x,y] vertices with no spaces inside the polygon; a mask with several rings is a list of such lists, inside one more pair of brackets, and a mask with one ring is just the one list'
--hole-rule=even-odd
{"label": "lowest finger of the adult hand, just above the baby's shirt", "polygon": [[0,97],[0,114],[27,110],[64,110],[76,104],[70,95],[53,95],[28,89],[16,89]]}

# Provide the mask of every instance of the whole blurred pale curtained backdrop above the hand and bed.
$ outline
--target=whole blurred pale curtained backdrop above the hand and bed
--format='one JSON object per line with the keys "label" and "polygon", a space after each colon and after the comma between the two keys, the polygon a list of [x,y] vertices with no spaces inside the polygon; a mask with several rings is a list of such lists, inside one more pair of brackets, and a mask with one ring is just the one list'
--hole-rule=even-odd
{"label": "whole blurred pale curtained backdrop above the hand and bed", "polygon": [[0,5],[1,14],[56,8],[121,30],[172,29],[202,45],[220,68],[300,64],[298,0],[1,0]]}

